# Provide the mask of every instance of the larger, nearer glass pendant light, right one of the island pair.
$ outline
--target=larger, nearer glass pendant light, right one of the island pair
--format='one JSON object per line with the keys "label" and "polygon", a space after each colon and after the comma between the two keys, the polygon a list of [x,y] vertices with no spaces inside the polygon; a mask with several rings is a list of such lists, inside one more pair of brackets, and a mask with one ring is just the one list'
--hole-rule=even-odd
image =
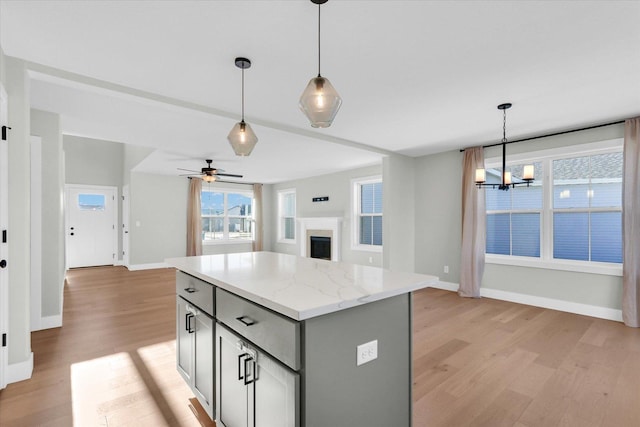
{"label": "larger, nearer glass pendant light, right one of the island pair", "polygon": [[299,102],[300,109],[314,128],[331,126],[342,104],[342,98],[329,79],[320,75],[320,5],[326,2],[327,0],[311,0],[311,3],[318,5],[318,76],[309,80]]}

